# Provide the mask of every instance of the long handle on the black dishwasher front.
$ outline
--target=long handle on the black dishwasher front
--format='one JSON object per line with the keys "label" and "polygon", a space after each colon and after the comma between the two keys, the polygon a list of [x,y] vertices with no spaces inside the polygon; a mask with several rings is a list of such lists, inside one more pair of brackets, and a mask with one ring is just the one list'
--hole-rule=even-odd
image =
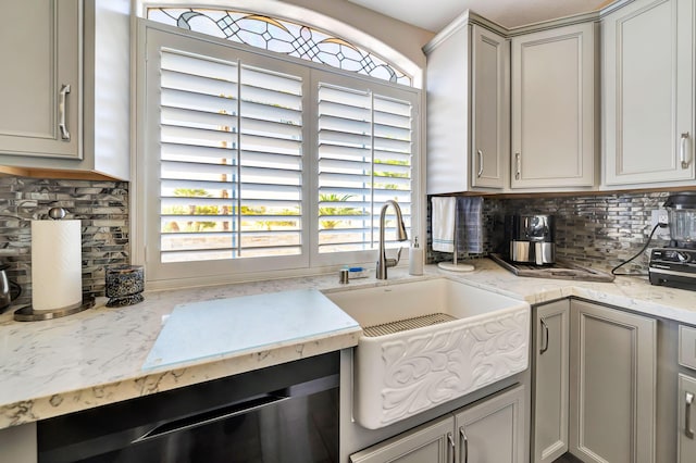
{"label": "long handle on the black dishwasher front", "polygon": [[240,403],[222,406],[220,409],[208,410],[206,412],[198,413],[191,416],[161,423],[145,433],[142,436],[134,439],[130,443],[144,442],[169,434],[192,429],[211,423],[227,420],[233,416],[244,415],[246,413],[253,412],[265,406],[284,402],[290,398],[291,396],[284,393],[284,391],[269,392],[257,396]]}

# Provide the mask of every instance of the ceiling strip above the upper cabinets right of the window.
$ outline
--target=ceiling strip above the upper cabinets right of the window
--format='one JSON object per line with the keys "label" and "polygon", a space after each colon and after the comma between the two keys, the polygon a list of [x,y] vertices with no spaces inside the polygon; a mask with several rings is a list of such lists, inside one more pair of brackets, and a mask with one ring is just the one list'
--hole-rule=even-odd
{"label": "ceiling strip above the upper cabinets right of the window", "polygon": [[508,28],[597,10],[609,0],[348,0],[433,33],[464,10]]}

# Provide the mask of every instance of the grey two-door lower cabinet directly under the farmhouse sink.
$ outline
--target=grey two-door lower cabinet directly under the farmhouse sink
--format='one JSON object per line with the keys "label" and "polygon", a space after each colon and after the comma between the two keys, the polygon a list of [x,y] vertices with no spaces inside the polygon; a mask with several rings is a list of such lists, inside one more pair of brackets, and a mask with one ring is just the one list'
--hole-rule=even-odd
{"label": "grey two-door lower cabinet directly under the farmhouse sink", "polygon": [[524,387],[515,386],[350,455],[352,463],[523,463]]}

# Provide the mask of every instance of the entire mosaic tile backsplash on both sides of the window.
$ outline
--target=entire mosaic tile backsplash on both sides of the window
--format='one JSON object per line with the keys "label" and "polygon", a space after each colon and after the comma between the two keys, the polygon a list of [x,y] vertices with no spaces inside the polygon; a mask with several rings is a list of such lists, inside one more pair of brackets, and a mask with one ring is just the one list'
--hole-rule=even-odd
{"label": "entire mosaic tile backsplash on both sides of the window", "polygon": [[[554,198],[485,197],[484,252],[476,255],[460,252],[459,259],[500,252],[506,246],[506,214],[554,214],[558,258],[610,270],[643,247],[652,228],[651,211],[662,205],[668,196],[669,192],[622,192]],[[67,210],[66,218],[82,221],[84,292],[103,296],[105,266],[130,261],[127,183],[2,177],[0,263],[9,265],[8,275],[23,288],[14,306],[32,300],[30,221],[45,218],[54,207]],[[430,226],[427,236],[428,262],[451,260],[451,254],[432,251]],[[654,238],[650,248],[667,243]],[[644,254],[622,272],[644,273],[646,266]]]}

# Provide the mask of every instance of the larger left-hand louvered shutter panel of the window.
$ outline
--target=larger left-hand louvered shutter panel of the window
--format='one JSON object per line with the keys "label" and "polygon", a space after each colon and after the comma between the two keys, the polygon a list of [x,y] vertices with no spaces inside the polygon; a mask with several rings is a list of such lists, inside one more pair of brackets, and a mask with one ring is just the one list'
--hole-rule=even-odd
{"label": "larger left-hand louvered shutter panel of the window", "polygon": [[301,253],[302,80],[161,50],[161,262]]}

